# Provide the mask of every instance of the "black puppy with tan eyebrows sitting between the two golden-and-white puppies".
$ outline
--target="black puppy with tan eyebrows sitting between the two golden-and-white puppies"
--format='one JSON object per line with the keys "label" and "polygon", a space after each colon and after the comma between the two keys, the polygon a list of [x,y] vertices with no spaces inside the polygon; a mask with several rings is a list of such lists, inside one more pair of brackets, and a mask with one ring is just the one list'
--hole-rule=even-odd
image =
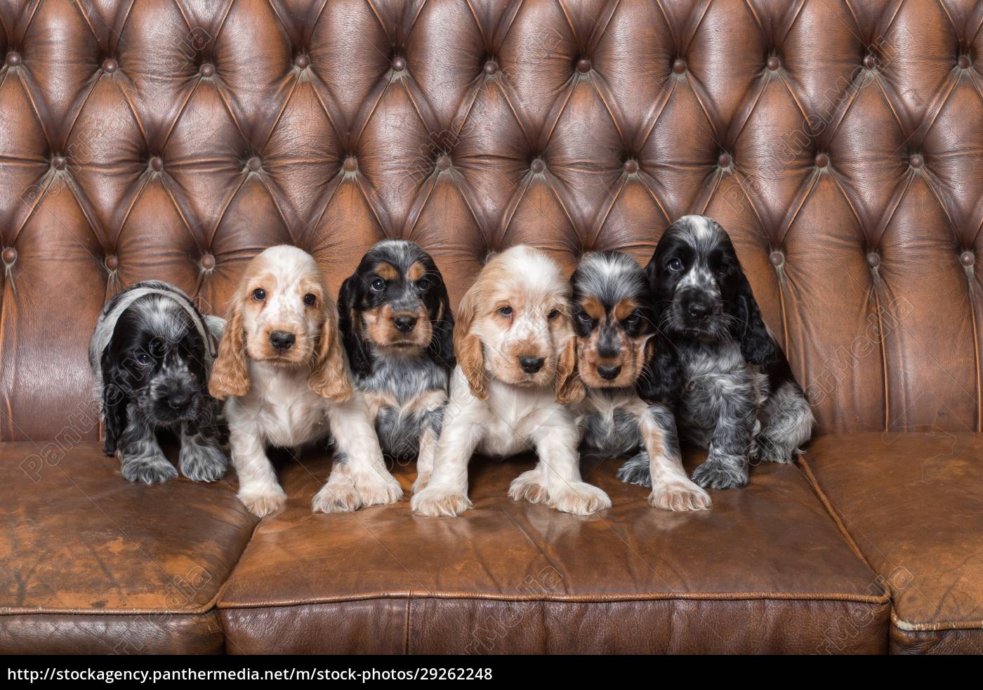
{"label": "black puppy with tan eyebrows sitting between the two golden-and-white puppies", "polygon": [[408,240],[376,244],[341,286],[338,327],[382,451],[416,456],[413,490],[424,489],[456,365],[454,317],[434,259]]}

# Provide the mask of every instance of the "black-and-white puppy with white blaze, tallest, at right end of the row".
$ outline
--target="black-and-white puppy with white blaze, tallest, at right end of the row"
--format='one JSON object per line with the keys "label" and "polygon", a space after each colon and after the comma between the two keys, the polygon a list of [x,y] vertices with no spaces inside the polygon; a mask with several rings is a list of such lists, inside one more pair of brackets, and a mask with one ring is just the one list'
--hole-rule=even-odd
{"label": "black-and-white puppy with white blaze, tallest, at right end of the row", "polygon": [[[791,462],[809,439],[812,411],[720,224],[703,215],[675,221],[646,271],[659,325],[685,371],[679,431],[709,451],[693,480],[743,487],[750,461]],[[636,482],[644,475],[630,462],[619,473]]]}

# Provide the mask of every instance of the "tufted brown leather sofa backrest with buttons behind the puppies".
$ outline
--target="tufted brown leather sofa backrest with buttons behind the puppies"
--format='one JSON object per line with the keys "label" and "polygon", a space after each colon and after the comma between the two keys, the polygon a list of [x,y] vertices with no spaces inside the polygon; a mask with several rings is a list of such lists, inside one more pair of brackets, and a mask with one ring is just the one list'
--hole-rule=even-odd
{"label": "tufted brown leather sofa backrest with buttons behind the puppies", "polygon": [[[295,244],[376,240],[456,304],[518,243],[567,269],[730,232],[819,431],[979,430],[973,0],[4,0],[0,433],[96,435],[121,286],[224,306]],[[82,420],[82,421],[80,421]]]}

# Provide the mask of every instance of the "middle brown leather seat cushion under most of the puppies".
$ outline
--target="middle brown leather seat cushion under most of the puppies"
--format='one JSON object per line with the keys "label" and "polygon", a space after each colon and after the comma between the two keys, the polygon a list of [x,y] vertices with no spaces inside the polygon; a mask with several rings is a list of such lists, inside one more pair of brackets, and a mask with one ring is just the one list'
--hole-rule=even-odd
{"label": "middle brown leather seat cushion under most of the puppies", "polygon": [[[506,496],[529,457],[476,458],[460,518],[408,498],[315,514],[329,462],[286,464],[287,505],[219,599],[229,651],[811,653],[847,633],[846,651],[886,651],[888,598],[797,468],[674,514],[619,483],[618,459],[589,462],[613,507],[588,518]],[[408,493],[413,465],[394,472]]]}

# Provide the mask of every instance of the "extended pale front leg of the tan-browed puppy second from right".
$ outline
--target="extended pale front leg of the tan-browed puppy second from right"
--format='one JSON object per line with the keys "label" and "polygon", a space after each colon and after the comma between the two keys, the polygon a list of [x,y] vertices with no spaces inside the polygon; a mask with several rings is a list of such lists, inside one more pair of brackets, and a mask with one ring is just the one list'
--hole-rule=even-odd
{"label": "extended pale front leg of the tan-browed puppy second from right", "polygon": [[662,405],[648,406],[642,401],[635,410],[642,443],[649,460],[652,493],[649,502],[664,510],[705,510],[710,495],[686,476],[679,455],[679,441],[672,411]]}

